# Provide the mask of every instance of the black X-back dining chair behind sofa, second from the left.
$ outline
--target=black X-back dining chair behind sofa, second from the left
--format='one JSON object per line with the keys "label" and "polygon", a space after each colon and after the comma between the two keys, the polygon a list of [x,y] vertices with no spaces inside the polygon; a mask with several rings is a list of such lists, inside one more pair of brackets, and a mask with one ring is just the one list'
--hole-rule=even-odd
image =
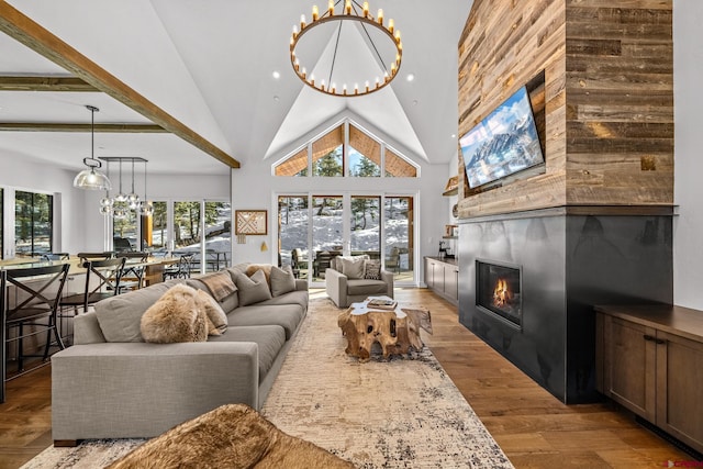
{"label": "black X-back dining chair behind sofa, second from the left", "polygon": [[82,292],[70,293],[60,300],[62,310],[72,309],[74,315],[78,314],[78,308],[83,312],[91,306],[120,293],[120,281],[124,271],[126,258],[87,260],[81,264],[86,269],[86,283]]}

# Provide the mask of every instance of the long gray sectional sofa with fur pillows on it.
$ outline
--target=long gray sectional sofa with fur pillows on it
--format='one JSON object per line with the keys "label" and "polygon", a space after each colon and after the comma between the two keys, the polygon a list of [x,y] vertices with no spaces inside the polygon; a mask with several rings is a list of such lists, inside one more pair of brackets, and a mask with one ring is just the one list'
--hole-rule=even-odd
{"label": "long gray sectional sofa with fur pillows on it", "polygon": [[228,326],[208,342],[144,342],[144,312],[176,283],[213,295],[204,277],[120,294],[75,317],[74,345],[52,357],[55,445],[153,437],[222,404],[260,409],[308,312],[308,286],[291,279],[293,291],[254,304],[242,304],[243,290],[221,299]]}

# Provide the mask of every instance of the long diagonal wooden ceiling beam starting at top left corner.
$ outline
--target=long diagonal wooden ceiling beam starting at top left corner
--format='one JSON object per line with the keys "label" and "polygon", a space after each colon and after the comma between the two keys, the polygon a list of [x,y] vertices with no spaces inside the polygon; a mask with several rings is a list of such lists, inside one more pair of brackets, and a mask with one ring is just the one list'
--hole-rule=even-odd
{"label": "long diagonal wooden ceiling beam starting at top left corner", "polygon": [[231,168],[239,167],[232,156],[5,1],[0,1],[0,31]]}

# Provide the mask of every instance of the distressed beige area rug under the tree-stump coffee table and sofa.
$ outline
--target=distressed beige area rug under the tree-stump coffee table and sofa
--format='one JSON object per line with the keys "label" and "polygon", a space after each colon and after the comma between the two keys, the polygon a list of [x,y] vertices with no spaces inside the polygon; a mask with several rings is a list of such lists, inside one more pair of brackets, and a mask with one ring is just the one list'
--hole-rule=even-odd
{"label": "distressed beige area rug under the tree-stump coffee table and sofa", "polygon": [[[311,300],[261,410],[269,421],[360,469],[513,467],[427,347],[361,364],[344,353],[341,311]],[[142,442],[49,447],[22,469],[100,468]]]}

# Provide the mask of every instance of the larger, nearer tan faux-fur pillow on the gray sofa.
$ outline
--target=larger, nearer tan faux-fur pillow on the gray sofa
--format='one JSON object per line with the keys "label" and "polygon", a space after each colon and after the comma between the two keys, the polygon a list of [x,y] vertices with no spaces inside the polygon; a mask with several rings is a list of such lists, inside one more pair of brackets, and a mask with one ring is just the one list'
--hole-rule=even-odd
{"label": "larger, nearer tan faux-fur pillow on the gray sofa", "polygon": [[198,291],[177,284],[146,310],[140,328],[146,342],[156,344],[205,342],[208,315],[198,301]]}

